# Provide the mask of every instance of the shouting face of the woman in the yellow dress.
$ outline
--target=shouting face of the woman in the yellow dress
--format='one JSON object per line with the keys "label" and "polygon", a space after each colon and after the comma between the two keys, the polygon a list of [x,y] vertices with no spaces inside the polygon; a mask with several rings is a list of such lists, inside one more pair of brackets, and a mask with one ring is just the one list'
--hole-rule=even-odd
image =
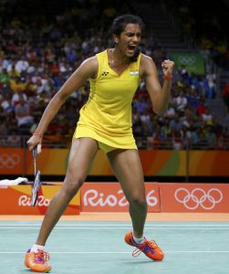
{"label": "shouting face of the woman in the yellow dress", "polygon": [[123,55],[131,58],[141,41],[141,26],[128,24],[119,37],[114,36],[114,41]]}

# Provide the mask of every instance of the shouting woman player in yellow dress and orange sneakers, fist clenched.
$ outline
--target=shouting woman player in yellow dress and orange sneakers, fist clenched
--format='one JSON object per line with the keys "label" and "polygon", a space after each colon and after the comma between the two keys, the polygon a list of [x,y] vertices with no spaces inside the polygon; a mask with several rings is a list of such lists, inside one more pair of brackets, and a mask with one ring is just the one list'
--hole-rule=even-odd
{"label": "shouting woman player in yellow dress and orange sneakers, fist clenched", "polygon": [[111,168],[130,203],[133,229],[125,236],[126,243],[136,247],[137,254],[144,252],[151,259],[161,260],[164,256],[155,241],[143,236],[147,202],[141,160],[132,134],[131,101],[141,79],[145,79],[153,111],[158,115],[166,111],[174,63],[171,60],[162,62],[164,81],[161,87],[153,60],[138,49],[142,29],[139,16],[115,18],[111,26],[114,47],[86,59],[76,69],[48,103],[36,132],[27,142],[30,151],[41,144],[48,124],[59,108],[89,79],[90,94],[80,110],[63,186],[48,206],[36,244],[26,253],[26,267],[34,271],[51,269],[47,263],[48,253],[44,251],[47,237],[84,183],[89,165],[99,149],[107,153]]}

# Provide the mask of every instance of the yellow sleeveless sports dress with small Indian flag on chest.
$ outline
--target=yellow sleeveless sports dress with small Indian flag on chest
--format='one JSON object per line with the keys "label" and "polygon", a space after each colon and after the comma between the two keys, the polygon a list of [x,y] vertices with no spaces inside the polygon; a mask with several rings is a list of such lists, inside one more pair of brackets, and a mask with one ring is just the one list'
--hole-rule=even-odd
{"label": "yellow sleeveless sports dress with small Indian flag on chest", "polygon": [[[99,71],[89,79],[88,102],[81,108],[73,138],[90,137],[113,149],[137,149],[132,134],[131,101],[140,84],[141,54],[119,76],[109,68],[108,50],[96,55]],[[109,151],[111,151],[110,149]],[[105,150],[106,153],[109,152]]]}

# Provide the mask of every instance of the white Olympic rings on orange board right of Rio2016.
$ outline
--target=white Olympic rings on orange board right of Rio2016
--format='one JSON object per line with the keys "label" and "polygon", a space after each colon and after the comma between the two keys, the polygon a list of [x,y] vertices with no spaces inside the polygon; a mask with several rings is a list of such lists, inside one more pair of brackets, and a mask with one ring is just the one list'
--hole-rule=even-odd
{"label": "white Olympic rings on orange board right of Rio2016", "polygon": [[188,209],[194,210],[201,206],[205,210],[211,210],[223,200],[223,193],[217,188],[211,188],[207,193],[202,188],[194,188],[190,193],[182,187],[175,191],[175,198]]}

